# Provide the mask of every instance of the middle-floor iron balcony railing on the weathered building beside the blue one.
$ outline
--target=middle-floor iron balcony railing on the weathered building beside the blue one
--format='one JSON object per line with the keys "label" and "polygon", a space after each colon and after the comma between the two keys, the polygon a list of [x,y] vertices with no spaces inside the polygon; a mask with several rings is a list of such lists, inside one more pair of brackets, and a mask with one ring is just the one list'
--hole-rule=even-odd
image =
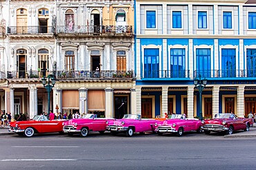
{"label": "middle-floor iron balcony railing on the weathered building beside the blue one", "polygon": [[133,71],[113,71],[113,70],[103,70],[103,71],[57,71],[58,79],[65,78],[134,78]]}

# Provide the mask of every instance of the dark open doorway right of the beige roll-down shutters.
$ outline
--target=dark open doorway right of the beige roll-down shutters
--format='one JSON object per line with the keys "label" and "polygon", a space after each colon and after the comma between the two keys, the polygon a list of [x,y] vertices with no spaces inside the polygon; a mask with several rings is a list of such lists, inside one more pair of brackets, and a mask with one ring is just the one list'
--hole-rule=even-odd
{"label": "dark open doorway right of the beige roll-down shutters", "polygon": [[123,118],[128,114],[128,96],[115,96],[115,116],[114,118]]}

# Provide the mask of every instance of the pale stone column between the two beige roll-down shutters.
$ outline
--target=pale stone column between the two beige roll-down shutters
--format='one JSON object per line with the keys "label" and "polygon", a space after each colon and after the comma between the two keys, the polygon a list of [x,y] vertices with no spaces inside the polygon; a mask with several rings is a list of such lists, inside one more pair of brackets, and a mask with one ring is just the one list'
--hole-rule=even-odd
{"label": "pale stone column between the two beige roll-down shutters", "polygon": [[88,104],[87,104],[87,88],[79,89],[79,111],[81,114],[88,114]]}

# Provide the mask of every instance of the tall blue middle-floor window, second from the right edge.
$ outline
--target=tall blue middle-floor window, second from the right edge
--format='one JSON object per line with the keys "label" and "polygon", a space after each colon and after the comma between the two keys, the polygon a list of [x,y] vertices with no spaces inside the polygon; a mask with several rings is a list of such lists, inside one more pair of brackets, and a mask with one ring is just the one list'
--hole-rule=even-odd
{"label": "tall blue middle-floor window, second from the right edge", "polygon": [[221,49],[221,76],[235,77],[235,49]]}

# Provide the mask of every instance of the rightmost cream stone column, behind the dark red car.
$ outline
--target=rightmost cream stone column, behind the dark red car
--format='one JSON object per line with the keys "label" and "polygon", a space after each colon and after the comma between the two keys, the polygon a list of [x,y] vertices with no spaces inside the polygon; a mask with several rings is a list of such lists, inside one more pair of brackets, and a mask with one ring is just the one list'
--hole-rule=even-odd
{"label": "rightmost cream stone column, behind the dark red car", "polygon": [[244,85],[237,87],[237,112],[238,117],[244,117]]}

